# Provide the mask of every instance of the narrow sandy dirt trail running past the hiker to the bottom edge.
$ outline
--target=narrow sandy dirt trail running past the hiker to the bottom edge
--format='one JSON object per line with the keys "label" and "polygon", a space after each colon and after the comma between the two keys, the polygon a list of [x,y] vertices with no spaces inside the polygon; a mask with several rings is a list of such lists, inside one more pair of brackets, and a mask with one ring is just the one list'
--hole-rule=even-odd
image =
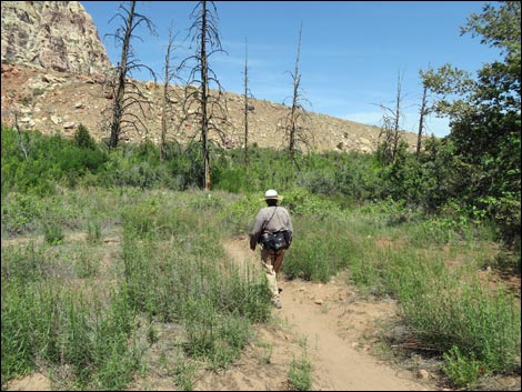
{"label": "narrow sandy dirt trail running past the hiker to the bottom edge", "polygon": [[[245,239],[230,241],[225,248],[229,254],[240,263],[259,262],[259,250],[257,253],[251,252]],[[350,287],[335,280],[328,284],[301,280],[284,281],[282,278],[279,280],[283,289],[281,292],[283,308],[274,309],[273,312],[287,325],[285,340],[281,340],[275,332],[264,333],[263,339],[273,343],[274,346],[291,345],[292,342],[295,344],[295,341],[307,342],[307,358],[313,366],[312,390],[434,390],[428,383],[415,380],[415,374],[411,372],[401,372],[389,364],[380,363],[368,353],[369,343],[363,343],[362,346],[360,344],[364,332],[374,330],[380,319],[394,314],[393,302],[371,303],[358,300]],[[292,350],[289,348],[288,353],[290,352]],[[292,355],[299,359],[302,356],[302,349],[301,353],[299,349],[295,353],[294,348]],[[280,361],[288,360],[287,366],[281,366],[287,375],[291,359],[290,355],[285,359],[278,358]],[[231,372],[235,371],[238,370],[231,370]],[[255,375],[255,373],[250,374],[250,382],[253,382]],[[281,383],[284,382],[280,381]],[[247,383],[235,382],[230,386],[249,390]]]}

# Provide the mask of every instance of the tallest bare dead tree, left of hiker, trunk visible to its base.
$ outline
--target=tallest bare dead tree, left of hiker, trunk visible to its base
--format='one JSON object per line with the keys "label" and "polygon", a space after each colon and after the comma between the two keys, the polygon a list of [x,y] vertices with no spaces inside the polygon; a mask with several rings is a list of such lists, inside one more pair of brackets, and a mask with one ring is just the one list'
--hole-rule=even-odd
{"label": "tallest bare dead tree, left of hiker, trunk visible to its base", "polygon": [[[207,3],[211,4],[210,10]],[[223,89],[209,66],[209,58],[217,52],[225,51],[221,48],[221,40],[218,30],[217,8],[213,1],[200,1],[190,14],[193,23],[190,27],[189,36],[192,37],[192,43],[195,44],[195,54],[184,59],[180,68],[193,61],[194,66],[189,72],[189,80],[185,88],[183,100],[183,118],[180,127],[190,118],[197,118],[201,127],[201,153],[203,161],[203,188],[210,190],[210,132],[215,132],[218,140],[224,144],[227,134],[220,128],[220,124],[229,124],[227,120],[227,103]],[[215,84],[218,90],[211,93],[210,84]],[[193,111],[191,108],[195,107]]]}

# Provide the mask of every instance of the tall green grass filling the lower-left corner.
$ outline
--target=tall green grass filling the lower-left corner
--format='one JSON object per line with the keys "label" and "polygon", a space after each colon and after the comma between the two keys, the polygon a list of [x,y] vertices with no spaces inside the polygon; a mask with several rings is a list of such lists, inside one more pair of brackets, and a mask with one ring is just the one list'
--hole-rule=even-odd
{"label": "tall green grass filling the lower-left corner", "polygon": [[2,385],[40,366],[67,366],[78,386],[120,390],[139,362],[123,292],[88,300],[61,263],[46,245],[2,250]]}

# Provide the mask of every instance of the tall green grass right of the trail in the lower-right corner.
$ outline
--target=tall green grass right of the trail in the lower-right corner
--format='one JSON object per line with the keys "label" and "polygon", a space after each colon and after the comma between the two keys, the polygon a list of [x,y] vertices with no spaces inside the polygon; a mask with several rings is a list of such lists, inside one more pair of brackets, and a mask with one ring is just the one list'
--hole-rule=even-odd
{"label": "tall green grass right of the trail in the lower-right corner", "polygon": [[404,321],[423,344],[445,353],[450,378],[459,363],[480,363],[476,376],[516,370],[521,318],[512,294],[413,252],[390,254],[388,262],[387,283]]}

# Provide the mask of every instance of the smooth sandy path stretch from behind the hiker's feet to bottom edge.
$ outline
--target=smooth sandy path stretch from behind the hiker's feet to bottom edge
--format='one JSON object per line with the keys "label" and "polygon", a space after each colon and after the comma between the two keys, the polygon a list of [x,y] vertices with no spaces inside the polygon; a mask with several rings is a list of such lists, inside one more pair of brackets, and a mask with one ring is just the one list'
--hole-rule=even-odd
{"label": "smooth sandy path stretch from behind the hiker's feet to bottom edge", "polygon": [[[379,363],[368,353],[355,350],[360,330],[355,326],[340,328],[339,311],[333,309],[324,311],[330,299],[311,300],[309,295],[310,284],[305,282],[291,282],[282,284],[281,293],[283,308],[281,315],[289,322],[293,330],[305,336],[313,349],[313,368],[315,375],[324,383],[324,389],[337,391],[420,391],[428,390],[405,375],[399,375],[385,364]],[[303,287],[305,290],[302,290]],[[321,289],[322,287],[319,285]],[[324,288],[327,289],[327,288]],[[328,292],[331,290],[322,290]],[[328,294],[327,294],[328,295]],[[304,298],[303,298],[304,296]],[[315,301],[323,301],[317,304]],[[353,303],[352,306],[355,306]],[[373,304],[368,304],[371,306]],[[371,318],[378,311],[361,310],[358,314],[358,326],[364,326],[364,318],[372,322]],[[344,324],[350,324],[344,321]],[[340,332],[344,331],[341,338]],[[351,332],[350,332],[351,331]]]}

